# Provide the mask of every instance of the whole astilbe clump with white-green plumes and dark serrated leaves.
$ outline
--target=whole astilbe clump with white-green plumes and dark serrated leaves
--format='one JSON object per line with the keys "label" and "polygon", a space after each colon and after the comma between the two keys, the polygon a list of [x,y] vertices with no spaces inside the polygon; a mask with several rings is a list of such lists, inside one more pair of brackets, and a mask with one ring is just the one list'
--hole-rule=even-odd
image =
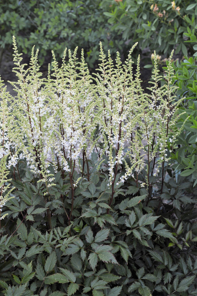
{"label": "whole astilbe clump with white-green plumes and dark serrated leaves", "polygon": [[92,76],[83,51],[61,66],[52,53],[42,78],[38,50],[26,67],[14,39],[17,95],[2,82],[0,101],[4,295],[196,295],[196,194],[169,158],[182,131],[172,55],[159,88],[155,53],[146,93],[133,50],[122,64],[101,46]]}

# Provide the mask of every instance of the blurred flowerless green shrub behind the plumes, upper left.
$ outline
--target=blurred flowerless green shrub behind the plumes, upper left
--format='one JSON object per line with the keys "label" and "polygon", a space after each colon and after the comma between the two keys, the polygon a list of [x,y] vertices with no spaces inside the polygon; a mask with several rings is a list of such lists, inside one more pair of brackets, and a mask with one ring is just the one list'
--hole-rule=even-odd
{"label": "blurred flowerless green shrub behind the plumes, upper left", "polygon": [[[100,1],[23,1],[0,3],[0,49],[11,49],[12,36],[17,38],[20,51],[28,54],[36,44],[40,61],[51,58],[51,50],[63,56],[65,47],[84,49],[90,67],[98,59],[99,41],[113,53],[123,41],[110,32]],[[50,59],[48,59],[50,60]],[[47,60],[47,61],[48,61]]]}

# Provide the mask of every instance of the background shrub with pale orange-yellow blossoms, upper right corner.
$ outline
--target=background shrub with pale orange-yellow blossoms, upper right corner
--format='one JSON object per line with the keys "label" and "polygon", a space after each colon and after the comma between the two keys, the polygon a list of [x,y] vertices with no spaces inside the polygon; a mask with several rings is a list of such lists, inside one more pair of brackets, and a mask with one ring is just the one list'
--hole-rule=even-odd
{"label": "background shrub with pale orange-yellow blossoms, upper right corner", "polygon": [[[187,48],[193,52],[190,43],[185,45],[185,37],[196,42],[195,28],[197,24],[197,3],[188,0],[104,0],[102,6],[108,17],[111,30],[122,34],[122,39],[130,46],[136,41],[140,49],[149,47],[153,52],[159,49],[159,54],[182,52],[187,55]],[[183,34],[187,31],[187,34]],[[191,42],[191,41],[189,41]]]}

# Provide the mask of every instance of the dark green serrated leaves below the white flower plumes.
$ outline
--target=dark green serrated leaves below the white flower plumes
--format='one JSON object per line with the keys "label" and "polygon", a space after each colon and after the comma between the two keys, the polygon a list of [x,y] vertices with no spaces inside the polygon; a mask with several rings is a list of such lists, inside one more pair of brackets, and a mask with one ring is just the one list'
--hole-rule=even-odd
{"label": "dark green serrated leaves below the white flower plumes", "polygon": [[108,180],[95,172],[79,181],[70,226],[68,180],[55,175],[47,205],[45,185],[36,181],[29,171],[13,181],[16,198],[6,204],[3,295],[196,295],[196,199],[183,177],[169,177],[161,196],[155,186],[148,202],[148,192],[129,179],[107,214]]}

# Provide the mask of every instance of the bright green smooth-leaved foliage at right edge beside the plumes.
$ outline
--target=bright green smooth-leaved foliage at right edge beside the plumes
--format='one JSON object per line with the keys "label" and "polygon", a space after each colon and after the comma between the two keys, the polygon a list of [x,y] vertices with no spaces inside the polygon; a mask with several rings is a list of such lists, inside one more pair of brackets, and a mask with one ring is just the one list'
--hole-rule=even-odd
{"label": "bright green smooth-leaved foliage at right edge beside the plumes", "polygon": [[[193,46],[196,51],[196,45]],[[178,127],[184,126],[183,131],[178,137],[181,143],[179,149],[172,153],[174,168],[177,174],[188,177],[197,183],[197,158],[196,158],[196,140],[197,140],[197,77],[196,77],[196,55],[194,57],[185,57],[181,63],[173,62],[175,69],[174,83],[179,86],[176,92],[177,99],[182,98],[182,103],[179,107],[180,119],[177,123]],[[163,68],[165,69],[165,67]],[[184,170],[184,171],[182,171]],[[182,172],[181,172],[182,171]]]}

